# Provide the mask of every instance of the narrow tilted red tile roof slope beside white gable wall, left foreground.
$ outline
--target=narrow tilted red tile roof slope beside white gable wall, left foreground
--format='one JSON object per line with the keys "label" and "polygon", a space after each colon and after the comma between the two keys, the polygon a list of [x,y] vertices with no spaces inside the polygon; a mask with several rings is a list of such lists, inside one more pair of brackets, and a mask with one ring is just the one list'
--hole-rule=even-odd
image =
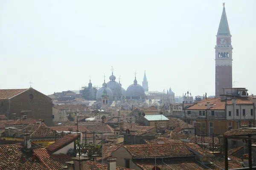
{"label": "narrow tilted red tile roof slope beside white gable wall, left foreground", "polygon": [[46,148],[50,152],[54,152],[55,150],[58,150],[64,146],[66,146],[67,144],[70,144],[75,139],[77,139],[77,134],[68,134],[64,138],[58,139],[56,142],[54,142],[53,144],[50,144]]}

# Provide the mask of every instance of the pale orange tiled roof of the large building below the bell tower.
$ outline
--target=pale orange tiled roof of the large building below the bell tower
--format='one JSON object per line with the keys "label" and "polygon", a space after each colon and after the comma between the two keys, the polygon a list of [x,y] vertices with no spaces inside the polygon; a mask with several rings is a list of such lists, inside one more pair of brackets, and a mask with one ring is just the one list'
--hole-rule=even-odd
{"label": "pale orange tiled roof of the large building below the bell tower", "polygon": [[[223,100],[221,98],[207,98],[203,99],[198,103],[186,108],[186,110],[206,110],[207,109],[207,102],[210,103],[210,110],[224,110],[225,109],[225,102],[227,105],[232,105],[232,100]],[[253,105],[253,98],[251,97],[238,97],[236,98],[236,105],[244,105],[244,104],[251,104]]]}

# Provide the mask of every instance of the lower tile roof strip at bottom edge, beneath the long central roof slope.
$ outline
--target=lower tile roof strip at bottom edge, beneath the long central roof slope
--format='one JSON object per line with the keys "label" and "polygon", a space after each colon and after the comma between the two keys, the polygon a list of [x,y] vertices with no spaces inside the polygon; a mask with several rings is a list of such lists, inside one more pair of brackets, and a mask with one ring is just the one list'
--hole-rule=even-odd
{"label": "lower tile roof strip at bottom edge, beneath the long central roof slope", "polygon": [[[157,167],[161,170],[209,170],[195,159],[163,159],[163,161],[157,159]],[[155,167],[155,161],[152,159],[134,159],[133,162],[142,170],[152,170]]]}

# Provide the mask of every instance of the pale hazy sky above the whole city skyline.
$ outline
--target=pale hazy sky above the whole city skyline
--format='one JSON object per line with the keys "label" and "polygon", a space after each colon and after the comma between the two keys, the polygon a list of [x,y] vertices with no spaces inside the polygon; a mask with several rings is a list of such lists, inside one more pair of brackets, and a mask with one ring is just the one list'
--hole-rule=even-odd
{"label": "pale hazy sky above the whole city skyline", "polygon": [[[215,44],[223,0],[0,0],[0,89],[44,94],[123,88],[144,70],[150,91],[215,94]],[[256,1],[226,0],[233,81],[256,94]],[[117,79],[118,81],[118,79]]]}

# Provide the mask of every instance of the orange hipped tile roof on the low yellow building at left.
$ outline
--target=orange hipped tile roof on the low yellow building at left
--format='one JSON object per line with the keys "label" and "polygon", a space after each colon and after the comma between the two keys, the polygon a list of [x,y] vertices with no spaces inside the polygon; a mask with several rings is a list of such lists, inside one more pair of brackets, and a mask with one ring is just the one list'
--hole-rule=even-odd
{"label": "orange hipped tile roof on the low yellow building at left", "polygon": [[55,130],[40,125],[30,136],[31,138],[53,138],[56,133]]}

